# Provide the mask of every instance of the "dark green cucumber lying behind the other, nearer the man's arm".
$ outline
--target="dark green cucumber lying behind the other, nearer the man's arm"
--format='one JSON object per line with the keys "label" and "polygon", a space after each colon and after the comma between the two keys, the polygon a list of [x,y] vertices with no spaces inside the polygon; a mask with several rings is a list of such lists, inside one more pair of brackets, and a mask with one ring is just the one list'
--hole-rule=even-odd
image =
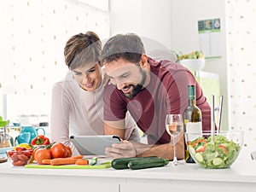
{"label": "dark green cucumber lying behind the other, nearer the man's arm", "polygon": [[128,163],[131,160],[157,160],[160,159],[158,156],[149,156],[149,157],[127,157],[127,158],[117,158],[111,161],[111,166],[114,169],[129,169]]}

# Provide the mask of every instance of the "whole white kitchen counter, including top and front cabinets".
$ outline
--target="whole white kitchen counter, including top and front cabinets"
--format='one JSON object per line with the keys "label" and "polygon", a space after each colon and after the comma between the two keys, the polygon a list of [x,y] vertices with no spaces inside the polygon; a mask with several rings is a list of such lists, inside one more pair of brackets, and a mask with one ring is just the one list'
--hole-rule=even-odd
{"label": "whole white kitchen counter, including top and front cabinets", "polygon": [[[143,170],[108,169],[32,169],[12,166],[9,162],[0,164],[0,181],[14,183],[11,186],[23,190],[24,183],[28,189],[44,191],[55,186],[58,191],[73,189],[93,189],[93,191],[231,191],[243,192],[256,189],[256,160],[238,159],[228,169],[202,169],[195,164],[184,164],[173,167],[168,165],[160,168]],[[41,186],[38,188],[38,186]],[[8,189],[8,188],[7,188]],[[49,188],[50,189],[50,188]],[[48,190],[49,191],[49,190]],[[52,191],[52,190],[50,190]]]}

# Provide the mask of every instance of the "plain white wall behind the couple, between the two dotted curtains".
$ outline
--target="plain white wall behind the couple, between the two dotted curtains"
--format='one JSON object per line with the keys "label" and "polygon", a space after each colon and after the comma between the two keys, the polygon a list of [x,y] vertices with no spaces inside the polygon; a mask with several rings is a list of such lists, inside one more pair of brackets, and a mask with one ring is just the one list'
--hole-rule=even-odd
{"label": "plain white wall behind the couple, between the two dotted curtains", "polygon": [[197,20],[220,18],[223,57],[207,61],[204,71],[219,74],[224,95],[222,125],[228,127],[224,0],[110,0],[110,12],[111,35],[136,32],[183,53],[200,48]]}

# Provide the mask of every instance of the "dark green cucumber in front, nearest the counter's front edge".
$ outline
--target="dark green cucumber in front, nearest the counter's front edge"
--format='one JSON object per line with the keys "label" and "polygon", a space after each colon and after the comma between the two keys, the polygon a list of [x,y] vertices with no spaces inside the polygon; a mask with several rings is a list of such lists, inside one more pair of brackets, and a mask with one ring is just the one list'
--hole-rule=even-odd
{"label": "dark green cucumber in front, nearest the counter's front edge", "polygon": [[145,169],[166,166],[169,163],[169,160],[166,159],[155,159],[155,160],[131,160],[128,163],[128,167],[132,170],[136,169]]}

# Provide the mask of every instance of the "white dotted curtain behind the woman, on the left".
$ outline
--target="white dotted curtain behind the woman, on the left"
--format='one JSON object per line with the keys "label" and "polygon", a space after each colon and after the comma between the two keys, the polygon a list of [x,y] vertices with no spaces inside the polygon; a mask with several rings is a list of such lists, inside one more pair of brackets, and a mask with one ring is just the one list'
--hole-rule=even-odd
{"label": "white dotted curtain behind the woman, on the left", "polygon": [[52,85],[67,73],[67,39],[86,31],[109,37],[108,0],[95,2],[1,1],[0,115],[49,114]]}

